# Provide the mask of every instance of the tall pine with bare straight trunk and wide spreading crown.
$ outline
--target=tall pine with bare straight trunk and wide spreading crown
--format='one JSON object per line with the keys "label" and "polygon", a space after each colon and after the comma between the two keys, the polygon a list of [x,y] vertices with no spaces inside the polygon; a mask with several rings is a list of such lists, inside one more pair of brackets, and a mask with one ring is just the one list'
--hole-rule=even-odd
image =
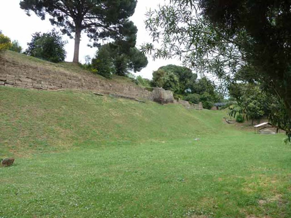
{"label": "tall pine with bare straight trunk and wide spreading crown", "polygon": [[20,7],[27,15],[36,13],[42,20],[48,14],[52,25],[72,37],[75,33],[73,62],[79,61],[81,32],[95,41],[107,37],[122,37],[120,30],[132,16],[137,0],[23,0]]}

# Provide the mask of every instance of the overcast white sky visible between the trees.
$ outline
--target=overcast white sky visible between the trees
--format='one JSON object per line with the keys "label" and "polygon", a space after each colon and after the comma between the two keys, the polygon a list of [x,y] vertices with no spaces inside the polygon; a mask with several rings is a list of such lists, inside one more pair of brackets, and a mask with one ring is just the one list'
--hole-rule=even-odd
{"label": "overcast white sky visible between the trees", "polygon": [[[166,0],[167,1],[167,0]],[[20,9],[19,0],[0,0],[0,30],[3,34],[11,38],[11,40],[18,40],[22,48],[26,49],[27,42],[31,41],[31,35],[35,32],[47,32],[52,30],[52,26],[48,19],[41,20],[33,12],[31,16],[27,16],[25,11]],[[135,13],[130,18],[138,28],[136,47],[140,48],[143,42],[151,42],[151,38],[148,32],[145,30],[145,13],[151,8],[157,8],[158,4],[164,4],[165,0],[138,0]],[[13,14],[13,16],[11,15]],[[73,60],[74,54],[74,40],[64,35],[63,39],[68,40],[66,44],[67,58],[66,61]],[[88,37],[86,34],[82,35],[80,44],[79,60],[84,62],[86,55],[94,56],[96,48],[90,48],[87,46]],[[152,78],[152,71],[158,69],[161,66],[168,64],[182,65],[179,60],[155,60],[148,57],[148,66],[142,69],[141,72],[137,72],[135,75],[141,75],[144,78]]]}

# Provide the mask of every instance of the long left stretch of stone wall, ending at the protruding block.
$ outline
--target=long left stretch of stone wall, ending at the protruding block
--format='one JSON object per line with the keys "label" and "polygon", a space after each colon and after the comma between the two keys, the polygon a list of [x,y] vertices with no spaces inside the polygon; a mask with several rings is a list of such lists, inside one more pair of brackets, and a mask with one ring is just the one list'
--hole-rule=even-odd
{"label": "long left stretch of stone wall, ending at the protruding block", "polygon": [[153,101],[151,91],[128,82],[116,82],[89,72],[67,72],[64,69],[36,67],[0,58],[0,85],[40,90],[82,89],[102,94],[117,94]]}

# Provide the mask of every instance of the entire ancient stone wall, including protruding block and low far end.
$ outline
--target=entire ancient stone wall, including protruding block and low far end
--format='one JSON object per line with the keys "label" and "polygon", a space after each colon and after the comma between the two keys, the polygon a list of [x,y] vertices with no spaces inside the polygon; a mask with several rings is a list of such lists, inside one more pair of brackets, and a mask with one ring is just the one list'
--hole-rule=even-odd
{"label": "entire ancient stone wall, including protruding block and low far end", "polygon": [[146,99],[162,104],[179,103],[187,108],[198,110],[203,108],[202,104],[194,105],[188,101],[176,101],[173,92],[162,88],[148,90],[129,81],[109,80],[85,70],[79,69],[76,72],[69,67],[62,67],[49,62],[33,62],[27,59],[24,63],[15,58],[13,53],[10,53],[10,57],[0,56],[0,85],[39,90],[92,90],[101,94],[122,96],[128,99]]}

